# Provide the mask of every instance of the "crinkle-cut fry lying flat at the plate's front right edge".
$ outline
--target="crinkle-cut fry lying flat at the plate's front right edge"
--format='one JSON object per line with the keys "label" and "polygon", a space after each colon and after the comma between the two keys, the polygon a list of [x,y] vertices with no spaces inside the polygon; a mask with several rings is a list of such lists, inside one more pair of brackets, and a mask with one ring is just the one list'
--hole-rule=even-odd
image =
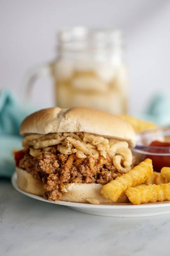
{"label": "crinkle-cut fry lying flat at the plate's front right edge", "polygon": [[143,184],[135,188],[128,188],[125,194],[132,204],[146,204],[170,200],[170,182],[160,185]]}

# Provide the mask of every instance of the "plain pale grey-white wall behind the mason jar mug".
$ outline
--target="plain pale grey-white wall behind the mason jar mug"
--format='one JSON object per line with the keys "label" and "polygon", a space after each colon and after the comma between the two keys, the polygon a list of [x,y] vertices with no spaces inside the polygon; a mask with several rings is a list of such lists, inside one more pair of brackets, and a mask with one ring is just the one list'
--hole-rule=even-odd
{"label": "plain pale grey-white wall behind the mason jar mug", "polygon": [[[10,88],[21,98],[27,68],[55,58],[57,30],[85,25],[123,29],[130,110],[144,110],[153,92],[169,93],[170,1],[1,0],[0,4],[1,89]],[[48,79],[40,81],[33,94],[34,102],[53,105]]]}

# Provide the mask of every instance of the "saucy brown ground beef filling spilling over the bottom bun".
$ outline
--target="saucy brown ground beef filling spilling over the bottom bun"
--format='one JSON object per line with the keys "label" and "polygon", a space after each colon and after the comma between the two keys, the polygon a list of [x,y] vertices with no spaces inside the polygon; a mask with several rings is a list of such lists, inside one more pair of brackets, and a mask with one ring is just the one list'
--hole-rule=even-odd
{"label": "saucy brown ground beef filling spilling over the bottom bun", "polygon": [[45,188],[45,198],[57,201],[62,198],[64,183],[99,183],[107,184],[120,175],[115,169],[112,159],[99,156],[93,159],[78,158],[75,154],[63,155],[54,147],[51,152],[33,157],[29,149],[24,150],[18,167],[31,173],[36,179],[41,179]]}

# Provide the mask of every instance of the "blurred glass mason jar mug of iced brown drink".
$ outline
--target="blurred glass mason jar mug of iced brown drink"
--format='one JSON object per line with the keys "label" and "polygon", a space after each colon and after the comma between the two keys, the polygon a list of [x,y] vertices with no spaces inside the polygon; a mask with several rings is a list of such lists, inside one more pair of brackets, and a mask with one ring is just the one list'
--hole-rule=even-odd
{"label": "blurred glass mason jar mug of iced brown drink", "polygon": [[[46,66],[54,78],[56,105],[126,113],[128,73],[122,55],[122,36],[118,30],[77,27],[61,31],[57,58]],[[28,89],[44,70],[33,74]]]}

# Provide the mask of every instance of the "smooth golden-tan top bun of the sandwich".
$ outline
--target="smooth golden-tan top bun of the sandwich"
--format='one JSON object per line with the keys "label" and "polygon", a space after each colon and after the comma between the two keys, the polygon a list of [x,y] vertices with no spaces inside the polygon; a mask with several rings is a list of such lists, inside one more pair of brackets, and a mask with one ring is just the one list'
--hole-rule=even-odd
{"label": "smooth golden-tan top bun of the sandwich", "polygon": [[128,122],[118,116],[92,108],[41,109],[27,116],[20,127],[20,134],[23,136],[31,133],[55,132],[88,132],[106,138],[125,140],[130,147],[136,144],[135,132]]}

